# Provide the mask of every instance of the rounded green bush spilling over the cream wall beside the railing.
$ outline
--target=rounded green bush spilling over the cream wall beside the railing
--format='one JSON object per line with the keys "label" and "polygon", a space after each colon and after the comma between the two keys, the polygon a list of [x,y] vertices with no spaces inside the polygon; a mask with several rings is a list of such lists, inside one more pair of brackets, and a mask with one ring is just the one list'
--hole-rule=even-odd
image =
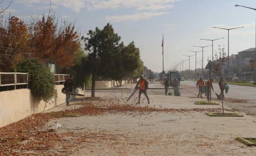
{"label": "rounded green bush spilling over the cream wall beside the railing", "polygon": [[17,72],[29,73],[29,88],[38,101],[48,102],[55,93],[53,74],[38,59],[27,59],[18,63]]}

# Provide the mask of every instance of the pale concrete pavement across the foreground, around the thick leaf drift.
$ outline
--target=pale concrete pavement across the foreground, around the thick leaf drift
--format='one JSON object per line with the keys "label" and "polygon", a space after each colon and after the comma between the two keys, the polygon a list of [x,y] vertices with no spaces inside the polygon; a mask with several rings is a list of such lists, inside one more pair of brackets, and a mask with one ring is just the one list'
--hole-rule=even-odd
{"label": "pale concrete pavement across the foreground, around the thick leaf drift", "polygon": [[[136,98],[126,102],[129,94],[96,93],[97,97],[115,98],[119,104],[133,105]],[[79,102],[82,99],[77,99]],[[61,118],[49,121],[48,126],[60,123],[63,128],[86,127],[86,134],[104,134],[118,136],[110,140],[91,140],[81,145],[72,155],[189,155],[189,156],[255,156],[256,148],[248,148],[235,138],[256,138],[255,117],[208,117],[205,109],[218,109],[221,105],[194,105],[205,99],[150,95],[150,105],[144,100],[138,106],[158,108],[198,109],[171,113],[146,114],[106,114],[100,116]],[[50,111],[59,111],[79,107],[79,105],[58,106]],[[202,109],[202,110],[201,110]],[[225,106],[225,109],[230,109]],[[230,109],[230,111],[232,111]],[[243,114],[243,113],[241,113]],[[58,133],[66,132],[65,129]],[[71,130],[77,135],[85,131]],[[84,147],[85,146],[85,147]],[[93,152],[92,152],[93,151]],[[87,153],[87,154],[85,154]]]}

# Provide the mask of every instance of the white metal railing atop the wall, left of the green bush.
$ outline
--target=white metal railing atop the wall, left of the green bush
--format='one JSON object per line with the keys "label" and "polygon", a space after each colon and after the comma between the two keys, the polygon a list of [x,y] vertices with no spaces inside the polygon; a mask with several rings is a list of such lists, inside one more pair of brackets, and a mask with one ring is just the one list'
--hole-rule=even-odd
{"label": "white metal railing atop the wall, left of the green bush", "polygon": [[0,86],[27,85],[28,88],[28,73],[3,73],[0,72]]}

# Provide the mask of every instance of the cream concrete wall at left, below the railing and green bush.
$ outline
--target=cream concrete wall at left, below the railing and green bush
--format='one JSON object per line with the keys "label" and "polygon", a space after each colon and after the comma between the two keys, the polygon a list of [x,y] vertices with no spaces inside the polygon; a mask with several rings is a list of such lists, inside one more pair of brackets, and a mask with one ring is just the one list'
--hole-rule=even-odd
{"label": "cream concrete wall at left, below the railing and green bush", "polygon": [[[47,104],[44,101],[35,100],[30,89],[0,92],[0,127],[65,103],[66,95],[61,93],[62,88],[63,85],[55,86],[56,94]],[[70,98],[73,99],[74,96]]]}

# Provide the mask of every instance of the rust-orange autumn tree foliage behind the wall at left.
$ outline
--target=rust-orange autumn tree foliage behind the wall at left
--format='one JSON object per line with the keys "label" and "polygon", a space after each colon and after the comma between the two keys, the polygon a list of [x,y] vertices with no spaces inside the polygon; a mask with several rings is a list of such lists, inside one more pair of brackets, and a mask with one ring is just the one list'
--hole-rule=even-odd
{"label": "rust-orange autumn tree foliage behind the wall at left", "polygon": [[10,17],[0,27],[0,71],[16,68],[20,60],[37,58],[42,63],[54,62],[57,70],[73,66],[80,49],[75,23],[58,22],[54,15],[43,16],[25,25],[18,17]]}

